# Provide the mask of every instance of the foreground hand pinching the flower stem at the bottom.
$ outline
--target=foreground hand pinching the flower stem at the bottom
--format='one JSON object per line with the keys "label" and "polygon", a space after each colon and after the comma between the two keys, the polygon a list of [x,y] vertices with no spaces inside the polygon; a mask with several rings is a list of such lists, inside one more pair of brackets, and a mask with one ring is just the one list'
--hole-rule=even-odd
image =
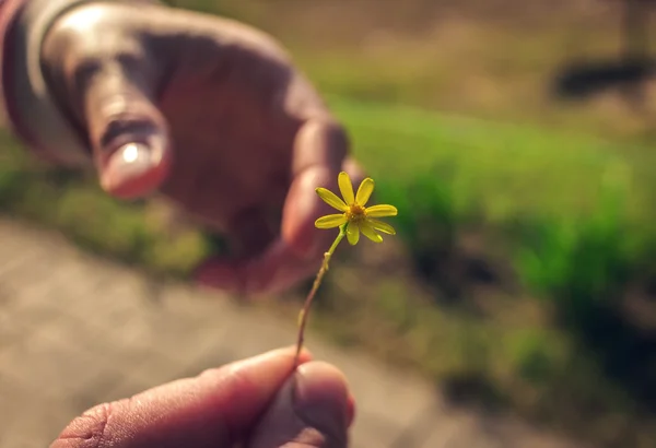
{"label": "foreground hand pinching the flower stem at the bottom", "polygon": [[105,403],[50,448],[345,448],[353,400],[343,375],[293,349]]}

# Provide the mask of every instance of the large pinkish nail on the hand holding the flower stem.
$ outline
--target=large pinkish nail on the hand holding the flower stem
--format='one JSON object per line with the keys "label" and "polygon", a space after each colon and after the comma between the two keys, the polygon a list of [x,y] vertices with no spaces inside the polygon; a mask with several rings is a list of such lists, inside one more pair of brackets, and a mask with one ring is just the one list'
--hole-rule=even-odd
{"label": "large pinkish nail on the hand holding the flower stem", "polygon": [[343,439],[349,418],[349,393],[343,375],[326,363],[301,365],[295,376],[294,410],[309,426]]}

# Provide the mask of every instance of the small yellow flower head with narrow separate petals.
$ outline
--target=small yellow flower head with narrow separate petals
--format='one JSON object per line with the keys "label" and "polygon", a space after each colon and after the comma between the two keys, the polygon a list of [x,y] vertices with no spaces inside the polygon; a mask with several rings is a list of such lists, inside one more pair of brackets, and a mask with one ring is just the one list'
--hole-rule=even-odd
{"label": "small yellow flower head with narrow separate petals", "polygon": [[360,233],[375,243],[382,243],[383,237],[376,233],[383,232],[388,235],[396,235],[393,226],[375,217],[396,216],[397,209],[394,205],[373,205],[365,208],[372,192],[374,192],[374,180],[366,178],[360,184],[358,193],[353,194],[353,185],[347,173],[340,173],[338,177],[339,190],[343,200],[326,188],[317,188],[317,194],[328,205],[333,207],[342,213],[329,214],[319,217],[315,222],[317,228],[335,228],[343,224],[347,225],[347,238],[351,245],[355,245],[360,239]]}

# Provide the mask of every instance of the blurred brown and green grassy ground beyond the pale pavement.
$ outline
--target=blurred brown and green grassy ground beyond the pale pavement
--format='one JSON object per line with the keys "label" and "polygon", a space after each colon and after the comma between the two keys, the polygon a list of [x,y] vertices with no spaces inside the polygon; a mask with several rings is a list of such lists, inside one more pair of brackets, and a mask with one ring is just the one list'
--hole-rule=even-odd
{"label": "blurred brown and green grassy ground beyond the pale pavement", "polygon": [[[399,209],[398,237],[333,263],[314,331],[452,402],[656,446],[656,2],[169,3],[278,37]],[[3,215],[156,278],[185,279],[214,245],[1,138]],[[305,291],[267,313],[293,321]]]}

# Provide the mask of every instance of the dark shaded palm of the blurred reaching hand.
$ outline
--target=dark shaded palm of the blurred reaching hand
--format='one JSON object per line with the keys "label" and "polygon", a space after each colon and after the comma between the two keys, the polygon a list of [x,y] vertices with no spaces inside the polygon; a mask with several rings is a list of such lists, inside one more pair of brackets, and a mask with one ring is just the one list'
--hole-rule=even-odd
{"label": "dark shaded palm of the blurred reaching hand", "polygon": [[[162,191],[250,246],[243,250],[258,251],[280,231],[304,115],[324,106],[282,58],[244,49],[227,57],[247,62],[232,64],[221,48],[201,51],[195,44],[184,51],[201,62],[177,63],[187,74],[172,78],[160,99],[175,157]],[[207,75],[199,80],[199,72]],[[305,101],[294,103],[297,95]]]}

